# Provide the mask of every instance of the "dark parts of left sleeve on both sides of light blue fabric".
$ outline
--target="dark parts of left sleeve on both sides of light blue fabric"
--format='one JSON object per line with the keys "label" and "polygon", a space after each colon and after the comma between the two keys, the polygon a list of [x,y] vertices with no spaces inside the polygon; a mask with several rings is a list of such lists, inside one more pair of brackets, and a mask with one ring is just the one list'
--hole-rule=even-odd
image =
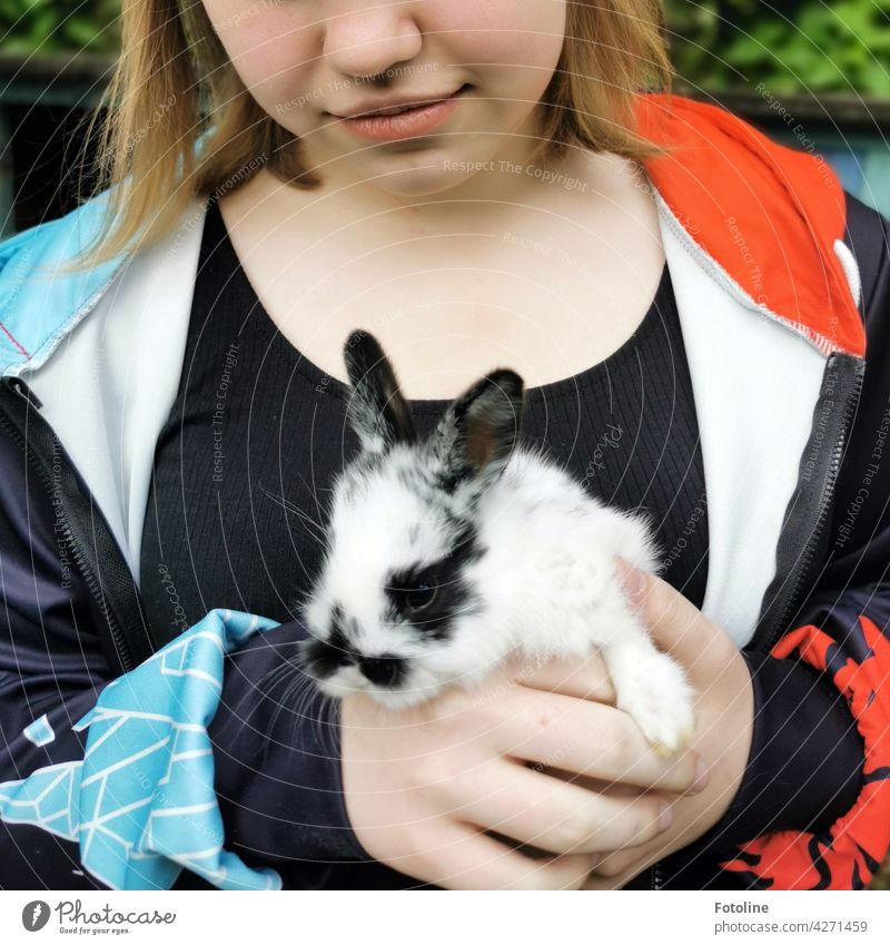
{"label": "dark parts of left sleeve on both sides of light blue fabric", "polygon": [[[51,496],[28,473],[0,429],[0,888],[106,888],[82,868],[76,825],[49,800],[24,809],[16,798],[39,769],[82,760],[87,731],[72,725],[116,676],[102,613],[57,543]],[[226,846],[249,845],[255,863],[365,858],[346,818],[329,707],[305,686],[260,691],[300,633],[285,624],[226,658],[211,726]]]}

